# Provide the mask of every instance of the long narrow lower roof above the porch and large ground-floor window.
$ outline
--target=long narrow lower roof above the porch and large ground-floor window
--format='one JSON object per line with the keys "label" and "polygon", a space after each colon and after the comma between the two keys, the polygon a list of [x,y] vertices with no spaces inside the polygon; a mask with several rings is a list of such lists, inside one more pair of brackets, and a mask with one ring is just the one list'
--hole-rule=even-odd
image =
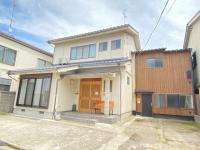
{"label": "long narrow lower roof above the porch and large ground-floor window", "polygon": [[98,68],[98,67],[111,67],[120,66],[126,62],[131,61],[129,58],[115,58],[96,61],[84,61],[69,64],[58,64],[50,67],[43,68],[29,68],[29,69],[17,69],[8,71],[8,75],[22,75],[22,74],[41,74],[41,73],[53,73],[53,72],[67,72],[83,68]]}

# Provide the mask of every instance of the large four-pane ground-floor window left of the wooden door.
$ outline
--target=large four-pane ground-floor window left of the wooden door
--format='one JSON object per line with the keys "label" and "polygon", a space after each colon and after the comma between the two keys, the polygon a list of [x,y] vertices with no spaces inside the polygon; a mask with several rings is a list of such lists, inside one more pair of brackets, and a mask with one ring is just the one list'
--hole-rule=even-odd
{"label": "large four-pane ground-floor window left of the wooden door", "polygon": [[51,77],[21,79],[17,105],[47,108]]}

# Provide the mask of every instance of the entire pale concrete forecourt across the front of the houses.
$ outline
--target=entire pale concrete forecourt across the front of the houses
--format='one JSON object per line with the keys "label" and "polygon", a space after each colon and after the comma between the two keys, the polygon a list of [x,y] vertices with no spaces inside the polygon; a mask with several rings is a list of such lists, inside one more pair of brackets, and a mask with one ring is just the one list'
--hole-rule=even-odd
{"label": "entire pale concrete forecourt across the front of the houses", "polygon": [[[200,125],[189,121],[131,117],[114,125],[0,116],[0,141],[23,149],[200,149]],[[1,149],[1,147],[0,147]]]}

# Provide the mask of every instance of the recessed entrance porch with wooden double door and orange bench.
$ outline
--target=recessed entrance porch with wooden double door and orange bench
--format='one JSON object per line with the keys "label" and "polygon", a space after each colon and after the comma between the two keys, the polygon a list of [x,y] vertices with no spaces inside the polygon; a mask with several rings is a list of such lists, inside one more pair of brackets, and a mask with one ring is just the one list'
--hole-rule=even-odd
{"label": "recessed entrance porch with wooden double door and orange bench", "polygon": [[85,122],[105,123],[114,123],[119,119],[118,73],[79,73],[60,76],[55,107],[62,119],[84,119]]}

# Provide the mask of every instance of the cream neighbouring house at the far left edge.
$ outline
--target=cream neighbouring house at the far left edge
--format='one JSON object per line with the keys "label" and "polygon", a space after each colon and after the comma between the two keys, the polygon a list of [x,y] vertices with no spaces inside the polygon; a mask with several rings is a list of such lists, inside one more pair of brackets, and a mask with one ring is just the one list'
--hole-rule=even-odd
{"label": "cream neighbouring house at the far left edge", "polygon": [[18,81],[8,76],[8,70],[43,67],[51,63],[51,53],[0,32],[0,91],[16,92],[18,89]]}

